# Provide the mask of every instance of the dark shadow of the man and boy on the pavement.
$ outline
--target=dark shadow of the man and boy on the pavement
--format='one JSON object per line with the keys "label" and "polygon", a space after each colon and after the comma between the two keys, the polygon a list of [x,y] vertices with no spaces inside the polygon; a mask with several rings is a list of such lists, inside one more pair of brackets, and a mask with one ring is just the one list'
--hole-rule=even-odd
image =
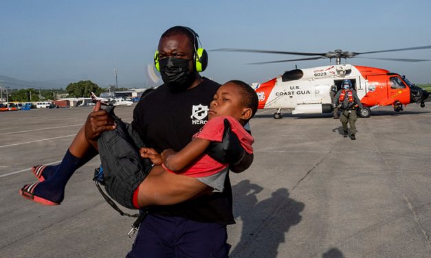
{"label": "dark shadow of the man and boy on the pavement", "polygon": [[230,257],[278,257],[278,246],[285,242],[285,233],[301,221],[305,204],[289,198],[286,188],[277,189],[271,197],[258,202],[256,194],[262,190],[250,180],[232,187],[234,215],[236,220],[242,220],[243,229]]}

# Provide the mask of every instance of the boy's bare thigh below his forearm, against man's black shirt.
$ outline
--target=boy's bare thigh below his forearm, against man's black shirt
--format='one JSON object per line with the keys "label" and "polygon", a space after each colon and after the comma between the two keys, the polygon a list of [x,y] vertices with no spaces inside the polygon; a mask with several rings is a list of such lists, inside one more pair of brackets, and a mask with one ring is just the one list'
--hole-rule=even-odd
{"label": "boy's bare thigh below his forearm, against man's black shirt", "polygon": [[137,188],[137,204],[139,207],[177,204],[211,191],[211,187],[196,178],[166,172],[157,165]]}

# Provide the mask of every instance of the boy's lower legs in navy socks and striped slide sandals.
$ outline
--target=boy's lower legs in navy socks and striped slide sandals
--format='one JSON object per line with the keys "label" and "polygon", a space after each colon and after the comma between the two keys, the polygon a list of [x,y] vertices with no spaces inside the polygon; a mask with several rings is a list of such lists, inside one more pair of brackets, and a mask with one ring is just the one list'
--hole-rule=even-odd
{"label": "boy's lower legs in navy socks and striped slide sandals", "polygon": [[20,190],[21,195],[41,204],[60,204],[64,198],[65,186],[72,174],[96,154],[96,150],[85,139],[84,127],[82,127],[76,134],[61,163],[48,170],[51,173],[54,171],[54,173],[48,177],[43,172],[46,168],[43,169],[41,175],[45,180],[37,185],[25,185]]}

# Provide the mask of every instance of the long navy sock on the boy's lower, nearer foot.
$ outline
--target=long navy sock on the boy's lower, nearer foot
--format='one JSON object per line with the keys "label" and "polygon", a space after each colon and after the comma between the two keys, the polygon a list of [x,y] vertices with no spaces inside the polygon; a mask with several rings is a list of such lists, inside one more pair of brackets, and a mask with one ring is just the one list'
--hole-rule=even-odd
{"label": "long navy sock on the boy's lower, nearer foot", "polygon": [[47,180],[39,183],[34,189],[34,194],[52,202],[62,202],[65,197],[67,181],[82,165],[82,159],[77,158],[67,150],[61,163],[53,166],[57,168],[56,172]]}

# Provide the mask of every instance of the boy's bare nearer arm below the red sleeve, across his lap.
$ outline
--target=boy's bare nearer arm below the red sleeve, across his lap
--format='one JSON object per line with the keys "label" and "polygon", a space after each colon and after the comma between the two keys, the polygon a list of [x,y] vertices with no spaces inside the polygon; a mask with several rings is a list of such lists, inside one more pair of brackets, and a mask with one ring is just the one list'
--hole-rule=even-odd
{"label": "boy's bare nearer arm below the red sleeve, across his lap", "polygon": [[205,152],[206,148],[208,148],[208,145],[210,145],[210,141],[195,138],[179,152],[164,150],[162,152],[162,157],[165,161],[164,164],[172,171],[179,171],[199,158]]}

